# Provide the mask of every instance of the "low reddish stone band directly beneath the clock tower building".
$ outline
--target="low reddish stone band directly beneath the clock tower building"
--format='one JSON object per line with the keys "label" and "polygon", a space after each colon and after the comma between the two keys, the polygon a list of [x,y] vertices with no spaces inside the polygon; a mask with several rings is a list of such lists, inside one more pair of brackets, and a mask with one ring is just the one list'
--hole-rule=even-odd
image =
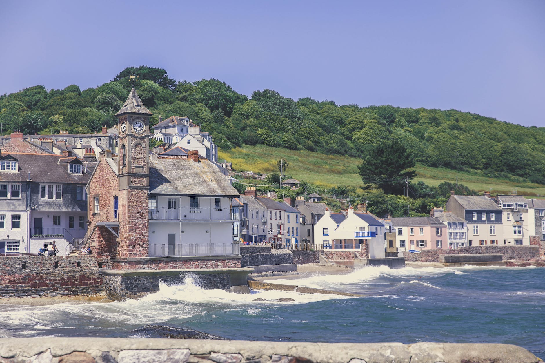
{"label": "low reddish stone band directly beneath the clock tower building", "polygon": [[145,261],[122,261],[112,259],[112,270],[167,270],[167,269],[219,269],[241,267],[237,258],[214,259],[148,259]]}

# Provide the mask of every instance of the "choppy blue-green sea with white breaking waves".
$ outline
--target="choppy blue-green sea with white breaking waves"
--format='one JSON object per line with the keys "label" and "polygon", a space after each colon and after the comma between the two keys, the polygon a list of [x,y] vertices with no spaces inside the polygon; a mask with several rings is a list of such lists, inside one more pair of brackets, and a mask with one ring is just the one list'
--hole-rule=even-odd
{"label": "choppy blue-green sea with white breaking waves", "polygon": [[[0,306],[0,337],[221,337],[295,342],[508,343],[545,356],[545,268],[365,267],[275,283],[361,294],[233,294],[197,276],[138,300]],[[268,301],[253,301],[254,299]],[[295,301],[274,301],[290,298]]]}

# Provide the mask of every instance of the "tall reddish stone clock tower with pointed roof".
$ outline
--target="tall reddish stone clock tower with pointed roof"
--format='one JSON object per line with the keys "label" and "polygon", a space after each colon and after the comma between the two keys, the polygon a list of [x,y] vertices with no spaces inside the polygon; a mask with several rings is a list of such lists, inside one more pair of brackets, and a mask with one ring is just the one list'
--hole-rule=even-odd
{"label": "tall reddish stone clock tower with pointed roof", "polygon": [[148,257],[151,115],[134,88],[131,89],[121,110],[116,113],[119,130],[117,257]]}

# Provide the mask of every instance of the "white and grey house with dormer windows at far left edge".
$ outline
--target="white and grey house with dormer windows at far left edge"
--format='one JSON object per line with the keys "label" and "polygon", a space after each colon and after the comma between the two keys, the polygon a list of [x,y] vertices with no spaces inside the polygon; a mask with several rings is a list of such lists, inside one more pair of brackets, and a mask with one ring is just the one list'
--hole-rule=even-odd
{"label": "white and grey house with dormer windows at far left edge", "polygon": [[84,186],[94,163],[75,156],[0,156],[0,253],[37,253],[56,241],[59,254],[87,230]]}

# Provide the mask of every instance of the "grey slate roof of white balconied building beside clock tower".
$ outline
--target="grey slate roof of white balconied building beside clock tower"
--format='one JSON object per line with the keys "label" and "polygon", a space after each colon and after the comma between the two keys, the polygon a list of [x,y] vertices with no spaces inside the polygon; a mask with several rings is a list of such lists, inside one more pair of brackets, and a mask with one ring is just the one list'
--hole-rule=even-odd
{"label": "grey slate roof of white balconied building beside clock tower", "polygon": [[220,170],[208,160],[150,160],[149,174],[149,193],[152,195],[240,196]]}

